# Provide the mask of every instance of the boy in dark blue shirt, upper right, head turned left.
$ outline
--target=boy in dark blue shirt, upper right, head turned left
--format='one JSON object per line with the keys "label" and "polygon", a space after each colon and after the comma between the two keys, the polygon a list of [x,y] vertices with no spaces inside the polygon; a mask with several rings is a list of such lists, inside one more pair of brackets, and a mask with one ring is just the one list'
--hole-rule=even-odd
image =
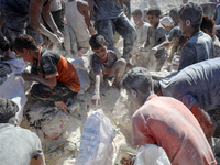
{"label": "boy in dark blue shirt, upper right, head turned left", "polygon": [[202,8],[193,2],[184,4],[178,11],[180,30],[190,38],[182,48],[178,70],[213,57],[212,40],[200,31],[202,13]]}

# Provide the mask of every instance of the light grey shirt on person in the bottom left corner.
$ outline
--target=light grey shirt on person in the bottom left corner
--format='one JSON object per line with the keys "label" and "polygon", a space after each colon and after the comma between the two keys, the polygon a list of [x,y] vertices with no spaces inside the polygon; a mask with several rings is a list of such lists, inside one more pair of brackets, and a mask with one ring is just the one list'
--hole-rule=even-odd
{"label": "light grey shirt on person in the bottom left corner", "polygon": [[0,148],[1,165],[29,165],[43,154],[35,133],[9,123],[0,124]]}

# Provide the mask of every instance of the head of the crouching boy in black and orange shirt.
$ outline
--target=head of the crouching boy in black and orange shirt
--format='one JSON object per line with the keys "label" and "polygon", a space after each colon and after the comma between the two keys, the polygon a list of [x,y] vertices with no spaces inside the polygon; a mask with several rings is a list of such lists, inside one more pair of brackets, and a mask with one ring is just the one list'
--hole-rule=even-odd
{"label": "head of the crouching boy in black and orange shirt", "polygon": [[33,37],[26,34],[19,35],[13,43],[14,52],[26,62],[34,62],[33,52],[37,50]]}

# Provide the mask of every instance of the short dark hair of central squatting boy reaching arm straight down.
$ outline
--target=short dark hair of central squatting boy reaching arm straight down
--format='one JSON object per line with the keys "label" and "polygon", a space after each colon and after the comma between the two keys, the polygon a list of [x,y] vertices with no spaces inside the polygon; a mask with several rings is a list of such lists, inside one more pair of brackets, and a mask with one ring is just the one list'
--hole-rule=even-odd
{"label": "short dark hair of central squatting boy reaching arm straight down", "polygon": [[107,41],[105,40],[105,37],[101,34],[95,34],[89,40],[89,45],[91,46],[92,50],[97,50],[102,46],[106,46]]}

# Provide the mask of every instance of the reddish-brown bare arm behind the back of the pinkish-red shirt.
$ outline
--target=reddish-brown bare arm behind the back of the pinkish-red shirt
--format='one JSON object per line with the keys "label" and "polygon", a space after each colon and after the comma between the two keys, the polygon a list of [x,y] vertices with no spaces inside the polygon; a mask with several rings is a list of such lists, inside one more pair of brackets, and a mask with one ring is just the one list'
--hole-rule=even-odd
{"label": "reddish-brown bare arm behind the back of the pinkish-red shirt", "polygon": [[191,107],[191,113],[196,117],[207,140],[210,140],[215,133],[216,124],[211,121],[209,114],[202,110],[197,102]]}

